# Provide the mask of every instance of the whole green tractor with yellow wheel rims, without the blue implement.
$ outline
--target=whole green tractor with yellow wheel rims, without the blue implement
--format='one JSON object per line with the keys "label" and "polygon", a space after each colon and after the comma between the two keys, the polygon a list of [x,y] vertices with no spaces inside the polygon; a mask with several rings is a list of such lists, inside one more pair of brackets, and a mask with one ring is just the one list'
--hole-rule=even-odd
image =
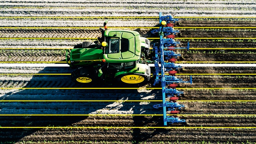
{"label": "whole green tractor with yellow wheel rims, without the blue implement", "polygon": [[150,42],[138,32],[100,28],[102,36],[95,42],[82,42],[66,51],[66,61],[74,69],[71,80],[93,86],[103,82],[112,85],[144,84],[150,79],[145,61]]}

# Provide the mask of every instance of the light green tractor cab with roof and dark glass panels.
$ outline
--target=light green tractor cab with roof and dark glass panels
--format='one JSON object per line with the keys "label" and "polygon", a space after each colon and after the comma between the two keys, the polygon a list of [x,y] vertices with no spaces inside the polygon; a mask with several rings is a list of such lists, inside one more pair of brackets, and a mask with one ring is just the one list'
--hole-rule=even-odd
{"label": "light green tractor cab with roof and dark glass panels", "polygon": [[106,46],[103,58],[108,63],[126,63],[140,59],[141,38],[138,32],[129,30],[104,31]]}

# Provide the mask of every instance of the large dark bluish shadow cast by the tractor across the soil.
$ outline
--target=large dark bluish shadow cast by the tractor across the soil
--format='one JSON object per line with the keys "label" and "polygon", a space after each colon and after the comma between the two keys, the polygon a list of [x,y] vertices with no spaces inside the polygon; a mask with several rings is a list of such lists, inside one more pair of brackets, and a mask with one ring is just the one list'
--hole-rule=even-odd
{"label": "large dark bluish shadow cast by the tractor across the soil", "polygon": [[[72,70],[69,67],[45,67],[38,73],[66,73]],[[15,79],[15,78],[14,78]],[[41,128],[26,127],[66,127],[74,126],[80,121],[85,121],[88,116],[49,116],[52,114],[98,114],[99,110],[106,109],[114,102],[100,102],[100,100],[139,100],[154,99],[157,91],[139,91],[137,89],[104,89],[99,84],[99,89],[72,89],[83,88],[83,85],[71,82],[70,75],[34,75],[25,80],[17,80],[23,88],[45,88],[45,89],[11,89],[2,91],[1,100],[98,100],[98,102],[2,102],[0,114],[26,114],[26,116],[0,116],[1,127],[23,127],[3,128],[0,131],[1,143],[15,143],[27,136],[42,130]],[[22,84],[23,83],[23,84]],[[16,86],[19,87],[19,86]],[[121,86],[120,86],[121,87]],[[71,89],[47,89],[47,88],[71,88]],[[118,109],[130,111],[132,114],[152,114],[152,103],[140,104],[140,102],[124,102]],[[113,108],[114,109],[114,108]],[[111,109],[109,109],[111,111]],[[156,112],[161,113],[161,110]],[[31,114],[45,114],[48,116],[30,116]],[[104,114],[104,113],[103,113]],[[134,116],[134,126],[144,126],[149,123],[157,123],[161,118]],[[97,124],[97,122],[96,122]],[[161,125],[161,124],[160,124]],[[139,130],[135,129],[134,139],[139,139]],[[144,139],[150,136],[143,136]]]}

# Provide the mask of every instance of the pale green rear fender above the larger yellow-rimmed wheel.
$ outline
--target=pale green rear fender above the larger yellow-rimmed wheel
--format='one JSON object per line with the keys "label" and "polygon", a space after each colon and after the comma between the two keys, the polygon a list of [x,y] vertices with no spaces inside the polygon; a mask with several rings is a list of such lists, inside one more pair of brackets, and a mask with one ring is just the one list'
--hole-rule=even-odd
{"label": "pale green rear fender above the larger yellow-rimmed wheel", "polygon": [[142,76],[147,76],[148,78],[150,78],[150,67],[147,64],[141,64],[141,63],[137,63],[136,67],[132,68],[132,69],[127,69],[125,71],[120,71],[115,73],[115,77],[120,76],[120,75],[124,75],[124,74],[131,74],[131,73],[136,73],[138,75],[142,75]]}

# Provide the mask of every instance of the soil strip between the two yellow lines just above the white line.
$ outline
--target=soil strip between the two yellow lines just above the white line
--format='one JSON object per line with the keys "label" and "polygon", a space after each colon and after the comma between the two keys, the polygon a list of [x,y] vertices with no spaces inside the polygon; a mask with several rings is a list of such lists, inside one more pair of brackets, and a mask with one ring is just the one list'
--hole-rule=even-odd
{"label": "soil strip between the two yellow lines just above the white line", "polygon": [[[65,50],[2,50],[1,52],[0,61],[65,61]],[[190,50],[176,51],[176,53],[182,55],[179,61],[184,62],[246,63],[256,61],[255,50]]]}

